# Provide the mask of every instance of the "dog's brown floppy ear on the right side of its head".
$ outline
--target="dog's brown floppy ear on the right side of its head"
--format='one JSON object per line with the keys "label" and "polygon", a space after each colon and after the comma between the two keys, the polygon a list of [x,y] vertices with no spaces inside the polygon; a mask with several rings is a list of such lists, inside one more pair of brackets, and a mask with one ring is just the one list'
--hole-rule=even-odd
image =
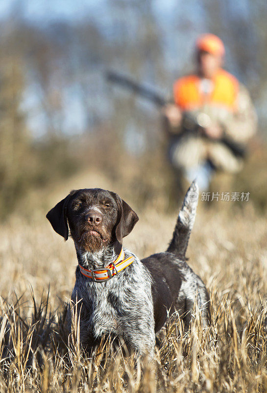
{"label": "dog's brown floppy ear on the right side of its head", "polygon": [[112,193],[118,204],[118,220],[115,229],[117,240],[122,244],[122,238],[127,236],[138,222],[138,215],[119,195]]}

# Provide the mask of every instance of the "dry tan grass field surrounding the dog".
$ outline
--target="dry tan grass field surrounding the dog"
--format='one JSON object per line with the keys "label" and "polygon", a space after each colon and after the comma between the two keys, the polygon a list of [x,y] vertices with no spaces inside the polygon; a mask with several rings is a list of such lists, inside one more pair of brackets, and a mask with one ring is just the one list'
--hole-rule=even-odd
{"label": "dry tan grass field surrounding the dog", "polygon": [[[196,310],[187,334],[179,318],[168,321],[153,363],[135,365],[108,342],[90,359],[79,348],[78,332],[67,337],[64,329],[73,243],[64,243],[45,219],[46,208],[84,186],[118,191],[136,207],[125,185],[82,174],[47,190],[40,206],[36,195],[28,196],[28,218],[22,204],[0,225],[0,392],[267,392],[265,214],[249,201],[243,208],[199,202],[187,254],[211,294],[207,330]],[[137,212],[140,221],[124,246],[139,257],[164,251],[178,208],[166,214],[152,205]]]}

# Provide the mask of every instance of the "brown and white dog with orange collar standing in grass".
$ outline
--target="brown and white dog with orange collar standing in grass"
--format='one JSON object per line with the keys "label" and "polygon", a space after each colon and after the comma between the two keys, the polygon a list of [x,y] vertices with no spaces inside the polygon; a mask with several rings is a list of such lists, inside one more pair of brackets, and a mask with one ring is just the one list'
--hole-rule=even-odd
{"label": "brown and white dog with orange collar standing in grass", "polygon": [[101,189],[72,191],[47,214],[53,229],[74,241],[78,266],[72,293],[80,312],[80,342],[92,349],[104,335],[122,337],[140,355],[152,356],[155,333],[167,313],[177,311],[189,326],[194,302],[209,323],[209,295],[186,263],[198,188],[193,182],[166,252],[140,260],[122,248],[138,221],[117,194]]}

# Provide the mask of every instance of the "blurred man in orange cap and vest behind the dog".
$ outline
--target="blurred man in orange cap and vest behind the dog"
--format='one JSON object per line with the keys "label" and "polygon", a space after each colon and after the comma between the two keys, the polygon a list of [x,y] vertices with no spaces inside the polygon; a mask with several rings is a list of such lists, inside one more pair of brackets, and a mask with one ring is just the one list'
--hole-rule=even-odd
{"label": "blurred man in orange cap and vest behind the dog", "polygon": [[207,190],[212,173],[238,172],[247,141],[256,132],[256,114],[246,88],[225,70],[224,45],[213,34],[196,42],[197,72],[173,85],[165,107],[170,160],[191,182]]}

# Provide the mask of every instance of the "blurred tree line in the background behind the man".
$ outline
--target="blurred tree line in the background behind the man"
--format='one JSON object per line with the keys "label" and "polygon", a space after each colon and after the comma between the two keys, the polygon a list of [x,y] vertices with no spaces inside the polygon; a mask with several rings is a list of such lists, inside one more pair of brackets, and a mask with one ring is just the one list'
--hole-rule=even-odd
{"label": "blurred tree line in the background behind the man", "polygon": [[160,113],[104,74],[118,70],[168,96],[173,80],[193,70],[194,41],[205,31],[225,42],[226,68],[251,91],[266,135],[266,1],[106,0],[101,12],[91,4],[82,19],[43,24],[25,19],[23,4],[0,24],[1,217],[29,188],[81,166],[116,172],[119,153],[142,162],[137,176],[144,162],[158,173]]}

